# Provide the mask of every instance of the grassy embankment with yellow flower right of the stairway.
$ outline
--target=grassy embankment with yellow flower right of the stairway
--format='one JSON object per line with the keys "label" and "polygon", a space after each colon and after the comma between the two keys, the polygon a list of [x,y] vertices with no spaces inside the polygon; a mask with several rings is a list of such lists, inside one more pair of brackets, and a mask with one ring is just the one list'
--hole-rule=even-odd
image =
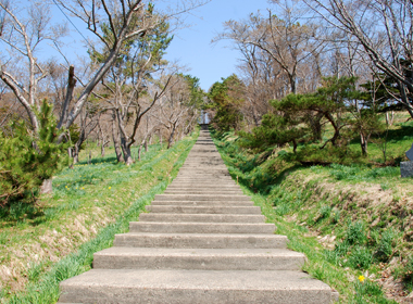
{"label": "grassy embankment with yellow flower right of the stairway", "polygon": [[[389,130],[387,156],[400,157],[413,141],[405,116]],[[214,140],[246,194],[261,206],[289,248],[306,254],[304,270],[340,293],[340,303],[395,303],[413,289],[413,185],[399,167],[380,167],[383,151],[356,165],[303,167],[279,149],[265,161]],[[350,149],[359,149],[358,141]]]}

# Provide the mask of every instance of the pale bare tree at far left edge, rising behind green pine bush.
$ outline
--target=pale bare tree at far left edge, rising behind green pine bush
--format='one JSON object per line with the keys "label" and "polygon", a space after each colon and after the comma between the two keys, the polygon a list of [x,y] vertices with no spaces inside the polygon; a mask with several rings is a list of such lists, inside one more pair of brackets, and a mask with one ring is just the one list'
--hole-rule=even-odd
{"label": "pale bare tree at far left edge, rising behind green pine bush", "polygon": [[[50,7],[46,3],[30,1],[25,15],[9,1],[0,1],[0,9],[2,13],[0,41],[3,45],[0,78],[25,107],[29,122],[37,132],[39,122],[36,110],[40,109],[41,102],[38,98],[38,87],[48,76],[47,66],[39,62],[37,52],[45,41],[57,41],[62,37],[66,28],[50,24]],[[27,66],[24,75],[16,74],[18,71],[16,67],[22,67],[24,64]]]}

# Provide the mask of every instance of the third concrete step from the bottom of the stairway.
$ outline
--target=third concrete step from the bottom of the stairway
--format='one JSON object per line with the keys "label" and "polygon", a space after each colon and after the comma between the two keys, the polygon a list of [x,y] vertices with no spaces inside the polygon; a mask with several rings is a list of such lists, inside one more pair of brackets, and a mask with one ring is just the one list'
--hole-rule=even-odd
{"label": "third concrete step from the bottom of the stairway", "polygon": [[259,233],[150,233],[116,235],[114,246],[175,249],[286,249],[287,237]]}

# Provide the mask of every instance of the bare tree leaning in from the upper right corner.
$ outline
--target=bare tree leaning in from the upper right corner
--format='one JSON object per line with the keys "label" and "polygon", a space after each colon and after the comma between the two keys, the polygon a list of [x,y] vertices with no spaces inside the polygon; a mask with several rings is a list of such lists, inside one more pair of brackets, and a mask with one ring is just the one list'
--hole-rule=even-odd
{"label": "bare tree leaning in from the upper right corner", "polygon": [[361,43],[373,64],[398,84],[397,98],[413,117],[413,2],[304,0],[329,26]]}

